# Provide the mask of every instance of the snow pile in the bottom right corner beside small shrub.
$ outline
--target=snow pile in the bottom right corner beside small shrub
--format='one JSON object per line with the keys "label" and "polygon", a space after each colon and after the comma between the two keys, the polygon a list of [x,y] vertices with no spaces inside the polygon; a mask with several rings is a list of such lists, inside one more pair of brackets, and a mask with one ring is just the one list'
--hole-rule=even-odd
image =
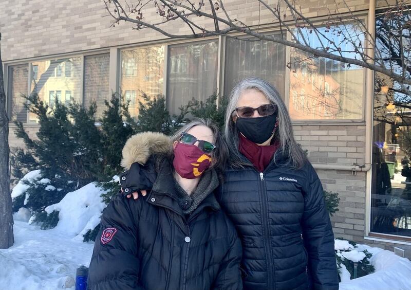
{"label": "snow pile in the bottom right corner beside small shrub", "polygon": [[372,253],[371,264],[375,273],[340,283],[340,290],[409,290],[411,289],[411,261],[396,256],[394,252],[367,245],[357,245],[358,251]]}

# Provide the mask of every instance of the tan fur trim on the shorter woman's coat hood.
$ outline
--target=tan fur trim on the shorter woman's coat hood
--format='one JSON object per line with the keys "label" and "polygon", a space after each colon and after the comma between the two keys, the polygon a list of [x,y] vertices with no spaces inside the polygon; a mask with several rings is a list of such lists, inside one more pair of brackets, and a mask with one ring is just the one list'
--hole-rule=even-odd
{"label": "tan fur trim on the shorter woman's coat hood", "polygon": [[144,165],[152,154],[169,152],[171,140],[158,132],[143,132],[133,135],[125,142],[121,166],[128,170],[134,162]]}

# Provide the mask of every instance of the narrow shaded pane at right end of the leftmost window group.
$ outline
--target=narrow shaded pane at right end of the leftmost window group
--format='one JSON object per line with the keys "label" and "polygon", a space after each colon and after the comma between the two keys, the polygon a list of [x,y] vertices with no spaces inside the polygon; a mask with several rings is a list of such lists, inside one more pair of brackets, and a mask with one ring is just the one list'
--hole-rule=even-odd
{"label": "narrow shaded pane at right end of the leftmost window group", "polygon": [[[88,108],[91,101],[96,102],[96,119],[103,117],[104,100],[110,99],[108,87],[110,55],[84,57],[84,106]],[[67,68],[66,68],[67,74]],[[71,92],[66,91],[66,103],[70,102]]]}

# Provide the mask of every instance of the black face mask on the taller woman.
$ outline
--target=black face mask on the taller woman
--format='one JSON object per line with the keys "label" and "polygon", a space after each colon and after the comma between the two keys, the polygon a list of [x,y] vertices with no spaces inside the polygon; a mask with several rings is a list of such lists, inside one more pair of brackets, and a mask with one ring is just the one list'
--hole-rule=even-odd
{"label": "black face mask on the taller woman", "polygon": [[274,133],[277,113],[256,118],[237,118],[235,125],[247,139],[257,144],[267,141]]}

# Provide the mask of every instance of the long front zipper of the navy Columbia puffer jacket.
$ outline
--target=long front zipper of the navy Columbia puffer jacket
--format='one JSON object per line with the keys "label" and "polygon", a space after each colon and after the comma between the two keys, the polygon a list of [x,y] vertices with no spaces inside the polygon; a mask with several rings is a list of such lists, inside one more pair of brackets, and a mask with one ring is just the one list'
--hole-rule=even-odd
{"label": "long front zipper of the navy Columbia puffer jacket", "polygon": [[268,208],[267,208],[267,191],[266,191],[266,183],[264,181],[264,173],[260,172],[260,184],[261,184],[261,193],[263,194],[263,227],[264,227],[264,246],[266,247],[266,253],[268,253],[267,259],[267,266],[268,266],[268,288],[274,289],[274,281],[275,281],[275,274],[274,274],[274,262],[273,262],[273,253],[271,245],[268,244],[270,239],[270,232],[269,232],[269,225],[268,225]]}

